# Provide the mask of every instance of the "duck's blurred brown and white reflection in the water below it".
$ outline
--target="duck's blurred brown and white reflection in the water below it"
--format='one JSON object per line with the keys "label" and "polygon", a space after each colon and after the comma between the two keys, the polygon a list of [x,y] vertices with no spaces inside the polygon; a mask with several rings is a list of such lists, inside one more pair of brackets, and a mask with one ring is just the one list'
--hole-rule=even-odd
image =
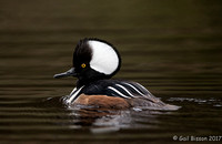
{"label": "duck's blurred brown and white reflection in the water below it", "polygon": [[121,128],[148,128],[158,123],[157,116],[165,113],[160,111],[130,109],[108,110],[78,105],[68,107],[72,117],[70,128],[88,127],[92,133],[117,132]]}

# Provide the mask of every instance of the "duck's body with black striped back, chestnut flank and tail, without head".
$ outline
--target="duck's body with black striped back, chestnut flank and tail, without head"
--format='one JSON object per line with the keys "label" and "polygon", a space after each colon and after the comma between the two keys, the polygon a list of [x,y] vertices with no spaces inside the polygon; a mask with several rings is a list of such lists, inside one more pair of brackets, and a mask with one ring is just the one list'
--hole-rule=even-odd
{"label": "duck's body with black striped back, chestnut flank and tail, without head", "polygon": [[153,96],[137,82],[120,80],[99,80],[85,85],[73,103],[98,105],[101,107],[135,107],[168,110],[169,104]]}

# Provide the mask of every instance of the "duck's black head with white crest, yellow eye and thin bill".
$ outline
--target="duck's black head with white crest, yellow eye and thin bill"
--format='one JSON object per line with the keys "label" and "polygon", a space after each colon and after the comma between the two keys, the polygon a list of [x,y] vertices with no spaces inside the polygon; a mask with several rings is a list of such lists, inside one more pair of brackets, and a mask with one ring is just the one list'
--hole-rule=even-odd
{"label": "duck's black head with white crest, yellow eye and thin bill", "polygon": [[110,79],[120,66],[120,54],[112,44],[99,39],[83,39],[74,49],[73,68],[54,78],[77,76],[79,88],[97,80]]}

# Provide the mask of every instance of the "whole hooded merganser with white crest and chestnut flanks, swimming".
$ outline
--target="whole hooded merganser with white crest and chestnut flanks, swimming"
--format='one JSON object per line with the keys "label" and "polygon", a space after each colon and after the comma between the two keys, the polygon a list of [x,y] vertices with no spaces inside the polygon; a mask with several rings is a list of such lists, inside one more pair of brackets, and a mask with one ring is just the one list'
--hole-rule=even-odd
{"label": "whole hooded merganser with white crest and chestnut flanks, swimming", "polygon": [[120,54],[111,43],[99,39],[80,40],[73,53],[73,68],[54,75],[56,79],[78,78],[77,88],[63,99],[64,104],[117,110],[134,106],[176,110],[178,106],[163,103],[137,82],[111,80],[120,66]]}

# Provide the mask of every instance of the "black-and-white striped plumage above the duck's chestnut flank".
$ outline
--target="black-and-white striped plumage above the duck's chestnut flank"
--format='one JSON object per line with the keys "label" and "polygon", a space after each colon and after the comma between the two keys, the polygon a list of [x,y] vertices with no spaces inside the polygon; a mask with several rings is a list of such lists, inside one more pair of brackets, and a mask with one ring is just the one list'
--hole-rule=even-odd
{"label": "black-and-white striped plumage above the duck's chestnut flank", "polygon": [[123,99],[145,99],[152,103],[160,102],[153,96],[145,88],[137,82],[120,81],[120,80],[99,80],[88,85],[74,89],[65,103],[73,103],[74,100],[81,94],[88,95],[109,95]]}

